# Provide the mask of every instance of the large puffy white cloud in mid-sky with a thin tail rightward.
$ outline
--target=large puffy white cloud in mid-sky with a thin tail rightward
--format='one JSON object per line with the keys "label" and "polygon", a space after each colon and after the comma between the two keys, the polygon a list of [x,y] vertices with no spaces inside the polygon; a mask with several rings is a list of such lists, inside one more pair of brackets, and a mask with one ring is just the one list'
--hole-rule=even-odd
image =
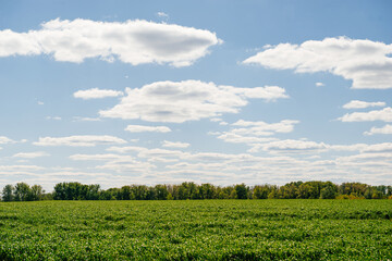
{"label": "large puffy white cloud in mid-sky with a thin tail rightward", "polygon": [[247,99],[267,101],[287,98],[278,86],[238,88],[200,80],[156,82],[142,88],[126,88],[126,96],[102,117],[140,119],[148,122],[183,123],[222,113],[237,113]]}

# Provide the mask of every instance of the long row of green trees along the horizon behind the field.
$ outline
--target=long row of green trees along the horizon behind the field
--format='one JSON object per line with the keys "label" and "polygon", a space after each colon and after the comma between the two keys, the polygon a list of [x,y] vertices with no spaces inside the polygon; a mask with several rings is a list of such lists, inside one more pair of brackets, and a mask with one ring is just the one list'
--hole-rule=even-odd
{"label": "long row of green trees along the horizon behind the field", "polygon": [[2,201],[36,200],[186,200],[186,199],[392,199],[392,186],[363,183],[292,182],[284,186],[256,185],[215,186],[184,182],[179,185],[126,185],[101,189],[98,184],[59,183],[52,192],[40,185],[7,185]]}

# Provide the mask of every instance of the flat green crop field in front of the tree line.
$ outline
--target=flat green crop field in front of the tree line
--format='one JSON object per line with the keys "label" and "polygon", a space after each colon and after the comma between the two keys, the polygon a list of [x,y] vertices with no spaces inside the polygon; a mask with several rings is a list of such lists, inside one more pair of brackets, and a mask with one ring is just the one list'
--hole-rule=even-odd
{"label": "flat green crop field in front of the tree line", "polygon": [[0,203],[0,260],[392,260],[392,200]]}

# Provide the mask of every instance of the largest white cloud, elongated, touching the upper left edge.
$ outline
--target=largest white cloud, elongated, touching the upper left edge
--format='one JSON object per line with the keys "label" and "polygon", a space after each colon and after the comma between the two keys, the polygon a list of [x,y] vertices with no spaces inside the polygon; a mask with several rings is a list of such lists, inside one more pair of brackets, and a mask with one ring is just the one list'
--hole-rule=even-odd
{"label": "largest white cloud, elongated, touching the upper left edge", "polygon": [[57,18],[41,24],[39,30],[0,30],[0,57],[52,54],[56,61],[75,63],[99,58],[133,65],[187,66],[220,42],[209,30],[173,24]]}

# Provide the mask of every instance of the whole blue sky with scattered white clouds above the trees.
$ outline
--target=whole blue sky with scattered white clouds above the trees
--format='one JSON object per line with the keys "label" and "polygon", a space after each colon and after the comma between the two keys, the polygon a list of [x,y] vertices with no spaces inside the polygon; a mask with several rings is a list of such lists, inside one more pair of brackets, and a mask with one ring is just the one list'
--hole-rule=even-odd
{"label": "whole blue sky with scattered white clouds above the trees", "polygon": [[391,12],[0,0],[0,187],[390,185]]}

